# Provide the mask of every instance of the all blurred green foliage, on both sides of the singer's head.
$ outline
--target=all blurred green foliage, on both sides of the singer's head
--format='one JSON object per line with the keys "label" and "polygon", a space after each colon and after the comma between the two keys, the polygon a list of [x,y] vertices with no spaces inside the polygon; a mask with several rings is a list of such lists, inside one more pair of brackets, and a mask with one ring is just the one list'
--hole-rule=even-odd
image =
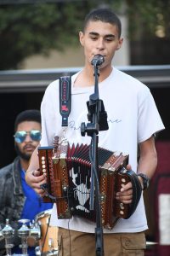
{"label": "all blurred green foliage, on both sides of the singer's head", "polygon": [[133,40],[170,37],[170,0],[87,0],[0,5],[0,69],[16,69],[30,55],[77,45],[82,20],[104,4],[128,17]]}

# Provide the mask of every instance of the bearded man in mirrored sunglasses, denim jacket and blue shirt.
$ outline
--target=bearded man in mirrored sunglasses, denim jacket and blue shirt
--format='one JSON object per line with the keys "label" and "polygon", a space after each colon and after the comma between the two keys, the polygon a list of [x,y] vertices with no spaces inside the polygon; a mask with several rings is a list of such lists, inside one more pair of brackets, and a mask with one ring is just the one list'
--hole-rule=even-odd
{"label": "bearded man in mirrored sunglasses, denim jacket and blue shirt", "polygon": [[[14,148],[18,156],[14,162],[0,170],[0,224],[6,218],[14,230],[19,228],[19,219],[35,219],[37,213],[52,207],[43,203],[33,189],[26,183],[25,175],[34,149],[41,140],[41,114],[30,109],[19,113],[14,122]],[[16,233],[16,232],[15,232]],[[32,240],[28,245],[32,246]],[[21,253],[20,241],[14,236],[13,253]],[[0,255],[3,255],[4,241],[0,242]],[[29,255],[36,255],[34,247],[28,248]]]}

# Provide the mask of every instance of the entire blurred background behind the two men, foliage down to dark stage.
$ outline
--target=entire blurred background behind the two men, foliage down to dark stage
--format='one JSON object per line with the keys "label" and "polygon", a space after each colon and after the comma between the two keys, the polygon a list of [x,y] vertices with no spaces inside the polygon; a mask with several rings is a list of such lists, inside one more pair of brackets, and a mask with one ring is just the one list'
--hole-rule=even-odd
{"label": "entire blurred background behind the two men, foliage down to dark stage", "polygon": [[[162,204],[166,212],[159,207],[159,195],[170,194],[170,0],[0,0],[0,167],[15,156],[17,113],[39,109],[51,81],[83,66],[78,32],[98,7],[122,20],[124,42],[114,65],[150,87],[167,128],[157,137],[158,168],[145,196],[147,238],[161,245],[146,254],[170,255],[170,198]],[[166,223],[160,224],[161,214]]]}

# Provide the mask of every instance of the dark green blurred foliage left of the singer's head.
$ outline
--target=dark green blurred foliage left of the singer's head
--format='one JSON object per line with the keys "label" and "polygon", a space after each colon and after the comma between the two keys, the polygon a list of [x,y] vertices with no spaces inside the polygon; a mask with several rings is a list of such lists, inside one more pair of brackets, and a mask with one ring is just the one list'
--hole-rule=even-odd
{"label": "dark green blurred foliage left of the singer's head", "polygon": [[15,69],[26,56],[76,44],[91,7],[93,1],[0,6],[0,69]]}

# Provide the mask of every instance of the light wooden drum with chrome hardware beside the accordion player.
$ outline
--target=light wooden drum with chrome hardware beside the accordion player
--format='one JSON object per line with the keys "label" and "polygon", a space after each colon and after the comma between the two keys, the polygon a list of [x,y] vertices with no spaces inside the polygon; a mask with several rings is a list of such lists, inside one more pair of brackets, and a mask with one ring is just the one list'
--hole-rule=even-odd
{"label": "light wooden drum with chrome hardware beside the accordion player", "polygon": [[50,226],[52,210],[37,214],[35,222],[40,226],[41,238],[39,247],[36,247],[36,255],[58,255],[58,227]]}

